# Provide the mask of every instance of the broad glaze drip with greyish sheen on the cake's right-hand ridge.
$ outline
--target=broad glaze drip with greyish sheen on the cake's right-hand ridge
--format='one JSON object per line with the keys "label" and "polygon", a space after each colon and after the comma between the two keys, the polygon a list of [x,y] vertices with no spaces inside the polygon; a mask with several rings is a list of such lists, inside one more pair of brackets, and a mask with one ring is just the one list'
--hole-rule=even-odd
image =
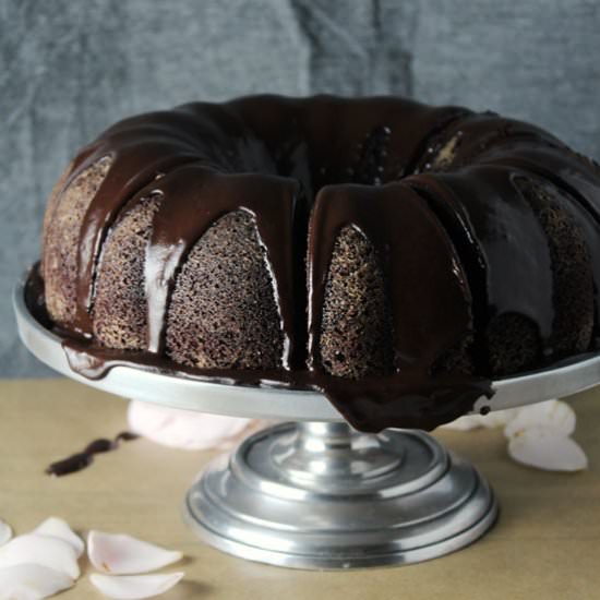
{"label": "broad glaze drip with greyish sheen on the cake's right-hand ridge", "polygon": [[[545,235],[512,181],[512,170],[472,166],[407,179],[424,189],[461,238],[471,265],[471,288],[479,296],[478,332],[503,314],[519,314],[539,329],[544,355],[552,355],[554,322],[551,259]],[[477,265],[478,268],[473,268]],[[484,298],[481,296],[484,295]]]}

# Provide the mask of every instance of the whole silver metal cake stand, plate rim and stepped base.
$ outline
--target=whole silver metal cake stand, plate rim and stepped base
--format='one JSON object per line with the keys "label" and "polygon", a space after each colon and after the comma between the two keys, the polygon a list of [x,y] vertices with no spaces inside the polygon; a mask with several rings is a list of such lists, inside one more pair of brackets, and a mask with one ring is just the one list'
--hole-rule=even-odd
{"label": "whole silver metal cake stand, plate rim and stepped base", "polygon": [[[75,381],[168,407],[290,421],[248,437],[189,490],[185,518],[215,548],[296,568],[406,564],[458,550],[496,519],[488,482],[424,432],[357,432],[313,392],[206,383],[134,367],[88,380],[69,367],[62,339],[32,315],[23,283],[13,304],[25,346]],[[600,355],[590,355],[496,381],[485,404],[511,408],[598,383]]]}

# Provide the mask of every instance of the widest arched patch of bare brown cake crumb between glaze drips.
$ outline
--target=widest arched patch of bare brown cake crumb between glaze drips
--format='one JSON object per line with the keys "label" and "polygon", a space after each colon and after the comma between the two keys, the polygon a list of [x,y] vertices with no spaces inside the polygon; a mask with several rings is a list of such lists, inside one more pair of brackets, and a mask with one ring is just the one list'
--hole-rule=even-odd
{"label": "widest arched patch of bare brown cake crumb between glaze drips", "polygon": [[280,316],[250,213],[225,215],[191,250],[176,280],[166,343],[168,356],[190,367],[279,367]]}

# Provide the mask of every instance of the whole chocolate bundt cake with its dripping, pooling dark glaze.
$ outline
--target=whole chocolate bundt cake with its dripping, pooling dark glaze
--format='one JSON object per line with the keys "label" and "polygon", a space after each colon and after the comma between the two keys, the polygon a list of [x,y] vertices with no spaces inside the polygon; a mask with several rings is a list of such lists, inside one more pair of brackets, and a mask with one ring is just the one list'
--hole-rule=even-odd
{"label": "whole chocolate bundt cake with its dripping, pooling dark glaze", "polygon": [[127,119],[56,185],[43,245],[73,369],[317,389],[364,431],[432,429],[600,347],[600,168],[492,112],[254,96]]}

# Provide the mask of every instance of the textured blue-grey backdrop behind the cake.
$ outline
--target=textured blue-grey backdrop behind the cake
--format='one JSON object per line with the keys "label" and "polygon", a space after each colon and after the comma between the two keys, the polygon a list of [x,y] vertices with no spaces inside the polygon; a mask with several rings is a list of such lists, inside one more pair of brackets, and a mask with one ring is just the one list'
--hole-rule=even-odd
{"label": "textured blue-grey backdrop behind the cake", "polygon": [[491,108],[600,157],[598,0],[0,0],[0,376],[47,374],[10,292],[46,196],[111,122],[259,92]]}

